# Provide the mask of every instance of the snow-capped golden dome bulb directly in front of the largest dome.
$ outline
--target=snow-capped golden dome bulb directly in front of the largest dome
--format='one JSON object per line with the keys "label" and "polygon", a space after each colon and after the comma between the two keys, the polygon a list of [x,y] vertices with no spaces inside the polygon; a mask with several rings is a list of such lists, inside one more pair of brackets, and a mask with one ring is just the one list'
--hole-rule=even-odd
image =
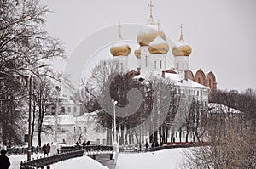
{"label": "snow-capped golden dome bulb directly in front of the largest dome", "polygon": [[154,41],[149,43],[148,51],[150,54],[167,54],[169,45],[158,35]]}

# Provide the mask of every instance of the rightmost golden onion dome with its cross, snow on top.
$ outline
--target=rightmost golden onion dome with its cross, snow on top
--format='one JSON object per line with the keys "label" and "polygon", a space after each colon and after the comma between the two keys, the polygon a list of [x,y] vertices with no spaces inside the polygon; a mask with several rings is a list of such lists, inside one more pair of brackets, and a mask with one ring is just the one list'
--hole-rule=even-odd
{"label": "rightmost golden onion dome with its cross, snow on top", "polygon": [[183,39],[183,25],[180,26],[181,33],[177,45],[172,47],[172,54],[174,56],[189,56],[192,52],[192,48]]}

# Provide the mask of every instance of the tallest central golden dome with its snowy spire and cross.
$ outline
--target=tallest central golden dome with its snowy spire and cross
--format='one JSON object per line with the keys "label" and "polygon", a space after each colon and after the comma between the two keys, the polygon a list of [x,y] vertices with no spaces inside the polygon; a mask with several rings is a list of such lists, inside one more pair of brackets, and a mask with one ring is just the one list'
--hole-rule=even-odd
{"label": "tallest central golden dome with its snowy spire and cross", "polygon": [[148,46],[150,42],[152,42],[158,34],[164,40],[166,40],[166,34],[164,31],[157,30],[157,23],[154,21],[153,14],[152,14],[152,0],[150,0],[150,16],[147,24],[140,30],[137,34],[137,42],[140,44],[141,47]]}

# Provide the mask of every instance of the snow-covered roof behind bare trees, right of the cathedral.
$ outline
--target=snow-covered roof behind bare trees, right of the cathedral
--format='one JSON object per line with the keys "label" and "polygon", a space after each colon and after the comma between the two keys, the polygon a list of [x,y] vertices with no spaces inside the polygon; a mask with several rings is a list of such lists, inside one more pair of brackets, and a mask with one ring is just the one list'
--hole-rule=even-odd
{"label": "snow-covered roof behind bare trees, right of the cathedral", "polygon": [[212,113],[241,113],[241,111],[230,108],[224,104],[209,103],[208,108]]}

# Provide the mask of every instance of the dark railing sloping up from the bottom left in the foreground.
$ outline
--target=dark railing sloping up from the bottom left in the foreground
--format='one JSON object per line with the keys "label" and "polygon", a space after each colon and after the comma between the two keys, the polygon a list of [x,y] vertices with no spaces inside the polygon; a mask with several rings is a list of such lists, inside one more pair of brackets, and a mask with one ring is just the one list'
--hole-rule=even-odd
{"label": "dark railing sloping up from the bottom left in the foreground", "polygon": [[59,161],[65,161],[67,159],[72,159],[75,157],[83,156],[84,150],[75,150],[75,151],[69,151],[66,153],[61,153],[58,155],[52,155],[45,158],[40,158],[32,161],[21,161],[20,163],[20,169],[33,169],[33,168],[44,168],[48,167],[51,164],[54,164]]}

